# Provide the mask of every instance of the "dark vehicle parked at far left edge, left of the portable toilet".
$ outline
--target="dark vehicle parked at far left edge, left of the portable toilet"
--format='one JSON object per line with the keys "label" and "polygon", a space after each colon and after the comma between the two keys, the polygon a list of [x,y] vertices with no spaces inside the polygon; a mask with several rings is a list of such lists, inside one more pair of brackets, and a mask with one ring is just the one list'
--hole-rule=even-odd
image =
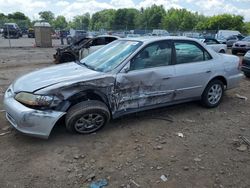
{"label": "dark vehicle parked at far left edge, left of the portable toilet", "polygon": [[16,23],[5,23],[3,25],[3,37],[4,38],[16,38],[22,37],[22,31]]}

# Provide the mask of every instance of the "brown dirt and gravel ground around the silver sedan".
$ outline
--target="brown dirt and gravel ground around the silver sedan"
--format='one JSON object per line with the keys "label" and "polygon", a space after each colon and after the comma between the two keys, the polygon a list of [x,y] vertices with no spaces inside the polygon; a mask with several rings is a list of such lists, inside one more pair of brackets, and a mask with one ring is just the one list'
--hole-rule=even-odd
{"label": "brown dirt and gravel ground around the silver sedan", "polygon": [[[0,110],[8,85],[52,66],[54,51],[0,48]],[[239,139],[250,139],[250,101],[236,97],[250,99],[249,86],[244,79],[215,109],[192,102],[151,110],[112,121],[97,134],[72,135],[63,123],[48,140],[10,130],[0,136],[0,187],[80,188],[91,178],[106,179],[114,188],[250,187],[249,146]],[[0,134],[8,126],[0,112]]]}

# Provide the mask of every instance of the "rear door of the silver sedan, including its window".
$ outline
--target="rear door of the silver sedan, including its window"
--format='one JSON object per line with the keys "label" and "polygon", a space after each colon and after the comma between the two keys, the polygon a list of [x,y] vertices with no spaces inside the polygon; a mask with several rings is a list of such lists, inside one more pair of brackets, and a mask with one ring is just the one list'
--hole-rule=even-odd
{"label": "rear door of the silver sedan, including its window", "polygon": [[195,41],[176,40],[175,100],[201,96],[212,74],[212,56]]}

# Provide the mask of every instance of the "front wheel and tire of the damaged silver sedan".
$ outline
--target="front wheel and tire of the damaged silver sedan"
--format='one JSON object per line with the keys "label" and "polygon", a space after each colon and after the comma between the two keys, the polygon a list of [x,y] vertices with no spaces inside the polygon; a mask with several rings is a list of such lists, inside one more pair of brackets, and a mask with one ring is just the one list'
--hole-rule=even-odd
{"label": "front wheel and tire of the damaged silver sedan", "polygon": [[108,107],[103,102],[96,100],[83,101],[72,106],[65,118],[66,129],[80,134],[96,132],[109,120]]}

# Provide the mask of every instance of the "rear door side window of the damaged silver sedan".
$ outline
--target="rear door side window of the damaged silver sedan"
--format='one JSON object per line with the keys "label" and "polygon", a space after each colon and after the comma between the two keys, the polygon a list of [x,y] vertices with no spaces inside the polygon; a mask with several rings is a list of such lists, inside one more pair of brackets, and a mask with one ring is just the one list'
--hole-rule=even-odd
{"label": "rear door side window of the damaged silver sedan", "polygon": [[176,64],[206,61],[211,56],[192,42],[175,42]]}

